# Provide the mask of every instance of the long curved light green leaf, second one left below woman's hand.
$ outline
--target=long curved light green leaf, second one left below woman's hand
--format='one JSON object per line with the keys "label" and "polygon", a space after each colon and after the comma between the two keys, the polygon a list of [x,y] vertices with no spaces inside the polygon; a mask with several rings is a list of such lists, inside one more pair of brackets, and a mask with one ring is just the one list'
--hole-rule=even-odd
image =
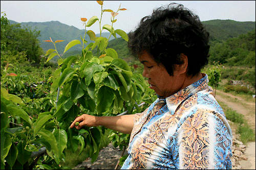
{"label": "long curved light green leaf, second one left below woman's hand", "polygon": [[48,130],[42,129],[37,134],[41,135],[43,138],[46,139],[46,141],[48,141],[50,143],[53,153],[57,157],[59,157],[57,141],[56,141],[55,136],[53,135],[53,133],[48,131]]}

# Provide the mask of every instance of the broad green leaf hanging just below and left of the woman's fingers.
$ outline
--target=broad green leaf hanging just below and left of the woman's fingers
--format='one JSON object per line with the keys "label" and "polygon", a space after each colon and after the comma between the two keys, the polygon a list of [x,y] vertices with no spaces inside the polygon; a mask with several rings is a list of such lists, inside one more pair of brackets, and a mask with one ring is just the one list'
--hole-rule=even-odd
{"label": "broad green leaf hanging just below and left of the woman's fingers", "polygon": [[59,149],[59,155],[63,152],[63,150],[67,147],[68,135],[67,132],[63,129],[55,129],[53,132],[55,139],[57,141],[57,147]]}

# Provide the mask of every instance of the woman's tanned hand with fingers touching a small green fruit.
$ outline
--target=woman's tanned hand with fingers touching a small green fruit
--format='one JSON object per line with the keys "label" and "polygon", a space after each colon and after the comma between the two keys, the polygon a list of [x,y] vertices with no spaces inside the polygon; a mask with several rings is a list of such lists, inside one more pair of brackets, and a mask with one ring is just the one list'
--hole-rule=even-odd
{"label": "woman's tanned hand with fingers touching a small green fruit", "polygon": [[[97,125],[97,116],[92,116],[90,114],[82,114],[81,116],[78,116],[75,118],[73,123],[70,125],[70,128],[76,128],[76,129],[81,129],[83,126],[88,126],[88,127],[94,127],[94,126],[99,126]],[[75,124],[79,122],[79,125],[76,126]]]}

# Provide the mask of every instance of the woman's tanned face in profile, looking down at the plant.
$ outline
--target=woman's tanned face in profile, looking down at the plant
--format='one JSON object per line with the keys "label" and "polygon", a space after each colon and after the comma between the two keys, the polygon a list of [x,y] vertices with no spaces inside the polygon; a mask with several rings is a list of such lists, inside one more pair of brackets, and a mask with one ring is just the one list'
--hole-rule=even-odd
{"label": "woman's tanned face in profile, looking down at the plant", "polygon": [[148,78],[150,88],[158,95],[168,97],[186,87],[184,74],[179,69],[174,71],[174,76],[170,76],[163,64],[157,63],[150,53],[145,51],[138,58],[144,65],[143,76]]}

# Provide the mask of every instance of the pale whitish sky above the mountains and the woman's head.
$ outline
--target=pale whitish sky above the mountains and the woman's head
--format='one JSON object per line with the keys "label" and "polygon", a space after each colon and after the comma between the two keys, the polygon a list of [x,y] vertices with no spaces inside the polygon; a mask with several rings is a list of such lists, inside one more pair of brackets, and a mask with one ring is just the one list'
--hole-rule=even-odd
{"label": "pale whitish sky above the mountains and the woman's head", "polygon": [[[184,5],[198,15],[201,21],[255,21],[255,1],[104,1],[102,8],[116,12],[121,4],[120,8],[127,9],[118,11],[113,28],[129,33],[135,30],[142,17],[151,15],[153,9],[170,3]],[[8,19],[19,23],[59,21],[82,30],[84,26],[80,18],[100,18],[101,6],[96,1],[1,1],[1,17],[2,12],[6,13]],[[102,15],[101,28],[105,24],[111,25],[110,12]],[[87,27],[87,30],[99,33],[99,22]]]}

